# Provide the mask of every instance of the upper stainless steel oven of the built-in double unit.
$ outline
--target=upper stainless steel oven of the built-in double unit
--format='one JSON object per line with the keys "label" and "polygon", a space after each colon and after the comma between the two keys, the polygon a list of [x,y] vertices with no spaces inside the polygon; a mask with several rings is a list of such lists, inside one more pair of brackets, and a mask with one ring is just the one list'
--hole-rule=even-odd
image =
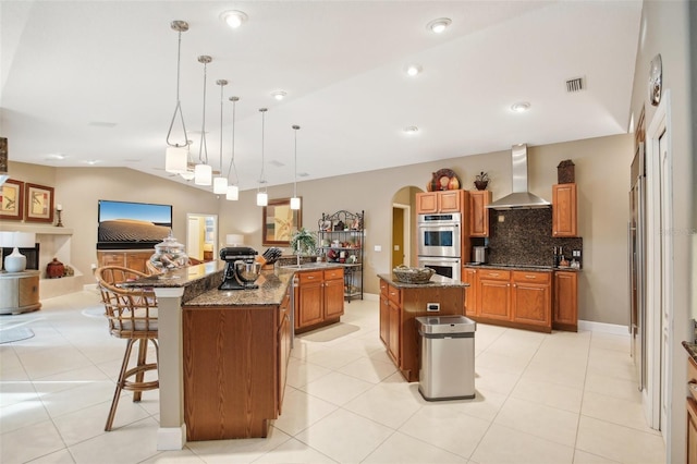
{"label": "upper stainless steel oven of the built-in double unit", "polygon": [[462,215],[418,215],[418,256],[461,257]]}

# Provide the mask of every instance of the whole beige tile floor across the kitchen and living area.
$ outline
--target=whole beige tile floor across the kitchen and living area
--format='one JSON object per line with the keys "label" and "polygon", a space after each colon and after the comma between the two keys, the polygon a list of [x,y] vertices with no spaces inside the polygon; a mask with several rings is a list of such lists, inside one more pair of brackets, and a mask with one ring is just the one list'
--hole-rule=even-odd
{"label": "whole beige tile floor across the kitchen and living area", "polygon": [[283,415],[267,439],[156,450],[158,393],[122,399],[103,431],[124,342],[96,293],[1,316],[0,462],[14,463],[664,463],[632,381],[628,338],[478,325],[470,401],[426,402],[387,357],[377,300],[296,338]]}

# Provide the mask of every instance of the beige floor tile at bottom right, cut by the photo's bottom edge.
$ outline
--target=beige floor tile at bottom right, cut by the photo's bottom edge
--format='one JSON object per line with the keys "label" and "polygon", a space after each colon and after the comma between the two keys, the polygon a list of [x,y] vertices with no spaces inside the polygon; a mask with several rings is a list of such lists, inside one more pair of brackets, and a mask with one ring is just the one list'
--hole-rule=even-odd
{"label": "beige floor tile at bottom right, cut by the photo's bottom edge", "polygon": [[662,437],[583,415],[576,448],[622,463],[665,463]]}

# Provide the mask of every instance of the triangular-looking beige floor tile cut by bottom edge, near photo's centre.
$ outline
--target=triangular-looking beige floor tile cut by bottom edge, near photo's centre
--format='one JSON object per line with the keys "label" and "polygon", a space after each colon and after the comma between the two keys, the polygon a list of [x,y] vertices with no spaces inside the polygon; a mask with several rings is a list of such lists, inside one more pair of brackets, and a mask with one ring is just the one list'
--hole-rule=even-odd
{"label": "triangular-looking beige floor tile cut by bottom edge, near photo's centre", "polygon": [[364,463],[466,463],[467,460],[428,444],[414,437],[400,434],[390,436]]}

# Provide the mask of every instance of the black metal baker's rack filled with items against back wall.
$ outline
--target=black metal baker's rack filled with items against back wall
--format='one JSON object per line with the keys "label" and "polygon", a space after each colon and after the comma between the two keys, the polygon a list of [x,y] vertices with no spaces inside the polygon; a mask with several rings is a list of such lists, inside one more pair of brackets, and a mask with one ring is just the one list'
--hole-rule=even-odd
{"label": "black metal baker's rack filled with items against back wall", "polygon": [[344,268],[344,297],[363,300],[363,259],[365,246],[365,211],[340,210],[322,213],[318,221],[317,252],[328,262]]}

